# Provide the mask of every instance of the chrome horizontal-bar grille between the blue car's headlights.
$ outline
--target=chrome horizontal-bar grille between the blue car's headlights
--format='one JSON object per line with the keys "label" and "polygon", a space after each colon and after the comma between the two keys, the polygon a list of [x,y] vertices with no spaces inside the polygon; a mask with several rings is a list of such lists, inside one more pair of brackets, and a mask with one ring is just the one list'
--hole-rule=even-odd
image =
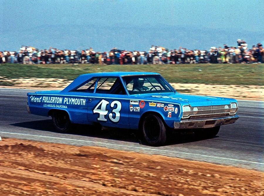
{"label": "chrome horizontal-bar grille between the blue car's headlights", "polygon": [[[211,114],[224,114],[230,113],[231,105],[227,105],[228,109],[225,111],[226,105],[214,105],[214,106],[200,106],[200,107],[191,107],[190,116],[192,115],[211,115]],[[198,111],[194,114],[194,108],[197,108]]]}

